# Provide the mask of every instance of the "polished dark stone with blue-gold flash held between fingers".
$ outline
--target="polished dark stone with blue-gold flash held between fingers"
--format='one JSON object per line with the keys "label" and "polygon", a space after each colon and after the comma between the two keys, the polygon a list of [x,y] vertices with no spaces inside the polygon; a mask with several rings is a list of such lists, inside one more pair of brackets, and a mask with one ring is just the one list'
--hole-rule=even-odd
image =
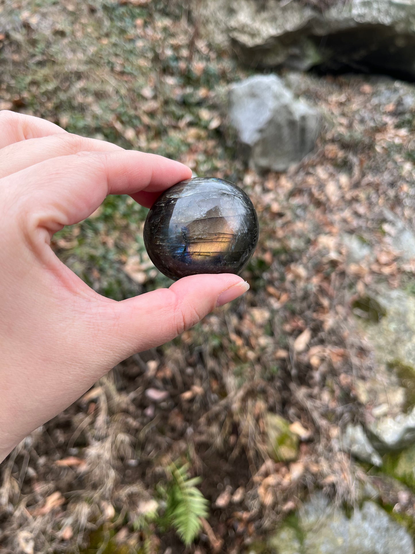
{"label": "polished dark stone with blue-gold flash held between fingers", "polygon": [[164,191],[144,223],[144,245],[170,279],[199,273],[240,273],[258,242],[248,196],[223,179],[188,179]]}

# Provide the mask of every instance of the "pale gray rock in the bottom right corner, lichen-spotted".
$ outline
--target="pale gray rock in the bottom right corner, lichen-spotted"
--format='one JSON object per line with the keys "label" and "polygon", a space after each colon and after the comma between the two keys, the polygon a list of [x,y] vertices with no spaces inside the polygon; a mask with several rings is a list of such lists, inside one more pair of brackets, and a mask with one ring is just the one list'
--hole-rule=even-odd
{"label": "pale gray rock in the bottom right corner, lichen-spotted", "polygon": [[[299,540],[299,538],[302,540]],[[273,554],[413,554],[408,532],[380,506],[364,502],[346,517],[322,495],[298,514],[298,533],[283,526],[269,541]]]}

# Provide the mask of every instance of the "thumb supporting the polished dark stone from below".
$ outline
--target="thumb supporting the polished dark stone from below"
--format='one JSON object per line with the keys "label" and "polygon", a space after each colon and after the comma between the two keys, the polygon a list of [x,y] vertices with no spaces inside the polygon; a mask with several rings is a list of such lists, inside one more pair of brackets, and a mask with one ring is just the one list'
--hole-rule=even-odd
{"label": "thumb supporting the polished dark stone from below", "polygon": [[108,322],[106,344],[116,356],[114,362],[172,340],[215,306],[234,300],[248,289],[248,283],[234,274],[191,275],[169,289],[106,304],[111,314],[102,321]]}

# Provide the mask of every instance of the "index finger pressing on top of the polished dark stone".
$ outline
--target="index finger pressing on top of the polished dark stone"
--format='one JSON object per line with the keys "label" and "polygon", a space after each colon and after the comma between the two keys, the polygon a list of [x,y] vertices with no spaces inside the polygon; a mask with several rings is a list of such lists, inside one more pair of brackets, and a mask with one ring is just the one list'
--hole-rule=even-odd
{"label": "index finger pressing on top of the polished dark stone", "polygon": [[190,177],[191,170],[182,163],[118,150],[51,158],[0,179],[0,184],[12,191],[13,207],[22,217],[33,214],[38,225],[53,233],[89,217],[108,194],[160,193]]}

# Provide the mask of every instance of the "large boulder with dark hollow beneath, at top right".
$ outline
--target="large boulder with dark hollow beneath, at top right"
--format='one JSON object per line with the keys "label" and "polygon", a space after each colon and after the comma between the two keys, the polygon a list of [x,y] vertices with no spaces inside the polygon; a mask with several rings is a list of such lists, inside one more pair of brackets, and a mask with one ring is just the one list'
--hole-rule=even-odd
{"label": "large boulder with dark hollow beneath, at top right", "polygon": [[415,0],[338,0],[321,2],[329,6],[323,10],[310,4],[198,0],[195,10],[209,39],[251,66],[415,76]]}

